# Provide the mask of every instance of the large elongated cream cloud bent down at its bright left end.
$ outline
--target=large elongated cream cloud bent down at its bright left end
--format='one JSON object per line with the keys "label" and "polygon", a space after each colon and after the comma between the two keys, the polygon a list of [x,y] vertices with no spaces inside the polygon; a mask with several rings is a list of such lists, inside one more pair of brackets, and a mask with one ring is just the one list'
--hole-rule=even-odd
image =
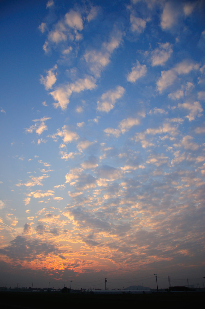
{"label": "large elongated cream cloud bent down at its bright left end", "polygon": [[69,104],[69,97],[73,92],[79,93],[84,90],[92,90],[95,87],[95,80],[92,77],[80,78],[75,83],[57,87],[56,90],[50,92],[53,99],[57,101],[53,105],[55,108],[60,107],[62,110],[65,110]]}

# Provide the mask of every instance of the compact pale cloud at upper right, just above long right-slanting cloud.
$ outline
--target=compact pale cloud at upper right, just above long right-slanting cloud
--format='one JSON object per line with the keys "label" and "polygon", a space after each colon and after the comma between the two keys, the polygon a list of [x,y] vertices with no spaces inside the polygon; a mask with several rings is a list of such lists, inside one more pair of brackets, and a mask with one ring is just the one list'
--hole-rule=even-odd
{"label": "compact pale cloud at upper right, just above long right-slanting cloud", "polygon": [[152,52],[152,66],[163,66],[173,53],[172,45],[167,43],[159,43],[159,48],[156,48]]}

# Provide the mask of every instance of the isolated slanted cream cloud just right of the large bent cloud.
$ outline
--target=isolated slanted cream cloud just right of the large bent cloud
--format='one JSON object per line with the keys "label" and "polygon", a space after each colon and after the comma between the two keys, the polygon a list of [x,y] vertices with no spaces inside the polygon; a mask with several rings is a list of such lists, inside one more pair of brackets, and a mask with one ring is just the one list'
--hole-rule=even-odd
{"label": "isolated slanted cream cloud just right of the large bent cloud", "polygon": [[114,108],[117,99],[120,99],[125,92],[125,89],[121,86],[115,87],[114,90],[109,90],[102,94],[101,100],[97,102],[98,111],[109,112]]}

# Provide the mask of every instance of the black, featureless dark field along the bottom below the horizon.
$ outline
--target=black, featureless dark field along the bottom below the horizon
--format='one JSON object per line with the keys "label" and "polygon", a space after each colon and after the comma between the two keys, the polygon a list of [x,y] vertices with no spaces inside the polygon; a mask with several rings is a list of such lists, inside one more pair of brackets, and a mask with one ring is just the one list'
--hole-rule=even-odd
{"label": "black, featureless dark field along the bottom below the horizon", "polygon": [[125,295],[81,295],[44,292],[0,292],[1,308],[203,308],[205,292]]}

